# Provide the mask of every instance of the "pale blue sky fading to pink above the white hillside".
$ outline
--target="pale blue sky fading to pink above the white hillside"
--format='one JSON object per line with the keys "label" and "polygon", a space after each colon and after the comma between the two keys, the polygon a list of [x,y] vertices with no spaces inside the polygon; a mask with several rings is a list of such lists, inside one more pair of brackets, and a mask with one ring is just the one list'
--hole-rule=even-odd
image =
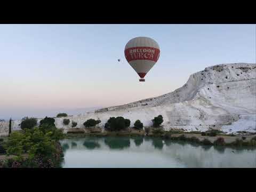
{"label": "pale blue sky fading to pink above the white hillside", "polygon": [[[124,57],[137,36],[161,49],[146,82]],[[233,62],[255,63],[255,25],[0,25],[0,119],[155,97]]]}

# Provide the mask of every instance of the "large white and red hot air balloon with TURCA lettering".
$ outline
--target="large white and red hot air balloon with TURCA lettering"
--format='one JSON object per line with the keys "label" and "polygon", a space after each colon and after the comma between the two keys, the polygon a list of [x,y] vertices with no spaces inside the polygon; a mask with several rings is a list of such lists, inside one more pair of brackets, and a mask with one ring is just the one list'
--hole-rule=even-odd
{"label": "large white and red hot air balloon with TURCA lettering", "polygon": [[144,77],[159,59],[159,45],[149,37],[135,37],[124,49],[124,55],[130,66],[140,76],[139,81],[145,82]]}

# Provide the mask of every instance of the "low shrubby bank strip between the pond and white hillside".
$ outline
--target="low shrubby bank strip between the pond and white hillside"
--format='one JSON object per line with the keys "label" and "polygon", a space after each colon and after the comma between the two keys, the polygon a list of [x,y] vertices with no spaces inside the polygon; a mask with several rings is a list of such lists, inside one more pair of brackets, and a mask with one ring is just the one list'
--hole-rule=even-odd
{"label": "low shrubby bank strip between the pond and white hillside", "polygon": [[[214,133],[212,133],[214,132]],[[235,147],[256,147],[255,135],[236,136],[223,134],[221,131],[208,131],[205,134],[199,131],[183,132],[183,131],[164,131],[161,128],[151,128],[147,133],[144,130],[119,131],[119,132],[97,132],[97,133],[67,133],[65,138],[82,138],[82,137],[134,137],[146,136],[151,138],[162,138],[164,140],[187,141],[196,143],[197,145],[209,146],[235,146]]]}

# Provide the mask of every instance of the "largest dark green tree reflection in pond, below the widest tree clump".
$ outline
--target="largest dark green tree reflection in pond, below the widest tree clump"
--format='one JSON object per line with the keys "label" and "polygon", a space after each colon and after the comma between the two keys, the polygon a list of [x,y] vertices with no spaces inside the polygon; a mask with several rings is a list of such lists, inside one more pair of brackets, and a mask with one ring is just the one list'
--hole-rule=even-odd
{"label": "largest dark green tree reflection in pond, below the widest tree clump", "polygon": [[110,149],[123,149],[130,147],[130,138],[112,138],[107,137],[104,142]]}

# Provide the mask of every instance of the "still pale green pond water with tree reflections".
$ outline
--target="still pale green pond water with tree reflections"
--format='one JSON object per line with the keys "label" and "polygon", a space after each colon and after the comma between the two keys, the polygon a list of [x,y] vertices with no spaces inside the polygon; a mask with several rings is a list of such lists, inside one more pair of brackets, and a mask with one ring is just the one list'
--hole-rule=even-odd
{"label": "still pale green pond water with tree reflections", "polygon": [[143,137],[61,141],[62,167],[256,167],[256,149],[197,146]]}

